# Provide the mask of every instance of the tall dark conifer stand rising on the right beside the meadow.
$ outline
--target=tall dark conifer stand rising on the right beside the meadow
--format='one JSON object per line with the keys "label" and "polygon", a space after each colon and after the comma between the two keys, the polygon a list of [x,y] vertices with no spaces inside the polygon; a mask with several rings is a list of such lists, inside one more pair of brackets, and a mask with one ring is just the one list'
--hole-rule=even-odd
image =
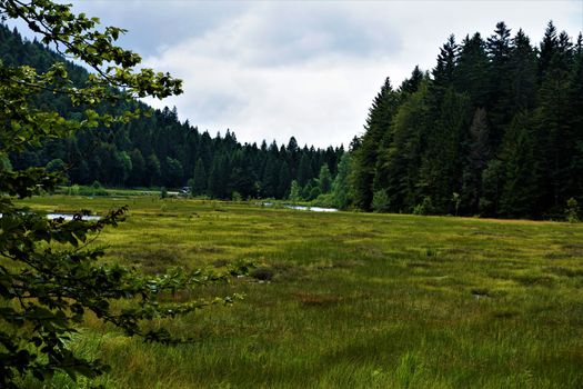
{"label": "tall dark conifer stand rising on the right beside the meadow", "polygon": [[500,22],[452,36],[430,73],[386,79],[352,156],[355,205],[531,218],[583,205],[582,46],[552,22],[539,44]]}

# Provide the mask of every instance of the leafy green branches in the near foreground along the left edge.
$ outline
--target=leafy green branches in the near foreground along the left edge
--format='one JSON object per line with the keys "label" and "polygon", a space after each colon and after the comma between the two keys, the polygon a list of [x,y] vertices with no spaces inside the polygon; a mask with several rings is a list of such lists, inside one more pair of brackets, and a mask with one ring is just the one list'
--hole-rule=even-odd
{"label": "leafy green branches in the near foreground along the left edge", "polygon": [[[42,212],[16,206],[14,199],[53,191],[62,181],[57,172],[59,163],[12,171],[6,156],[80,129],[125,123],[140,113],[139,109],[111,114],[99,113],[98,107],[135,97],[177,94],[181,81],[151,69],[137,70],[141,58],[114,46],[123,30],[98,30],[98,19],[76,16],[70,6],[49,0],[0,0],[0,16],[23,20],[44,44],[94,70],[79,86],[62,62],[37,71],[0,61],[0,387],[18,387],[20,378],[31,375],[43,380],[56,371],[72,378],[96,377],[105,371],[104,365],[69,349],[76,325],[86,312],[130,336],[179,341],[162,328],[144,329],[144,320],[228,303],[233,297],[184,303],[160,303],[159,297],[225,280],[229,272],[171,270],[142,277],[100,261],[103,251],[88,245],[103,228],[123,220],[127,207],[111,210],[97,221],[83,220],[89,211],[76,212],[72,220],[49,220]],[[47,94],[67,99],[79,114],[70,118],[56,108],[39,108],[39,98]],[[113,301],[120,299],[131,299],[134,305],[115,308]]]}

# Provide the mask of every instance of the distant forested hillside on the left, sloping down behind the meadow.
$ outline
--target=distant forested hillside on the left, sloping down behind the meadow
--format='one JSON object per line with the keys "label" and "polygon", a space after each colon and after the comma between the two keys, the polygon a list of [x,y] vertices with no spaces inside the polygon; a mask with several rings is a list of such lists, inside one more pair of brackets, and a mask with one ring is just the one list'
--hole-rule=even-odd
{"label": "distant forested hillside on the left, sloping down behind the meadow", "polygon": [[[28,64],[46,71],[63,58],[0,24],[0,60],[4,64]],[[78,83],[88,77],[86,69],[70,62],[67,70]],[[46,93],[38,100],[40,107],[76,114],[59,96]],[[112,111],[123,108],[103,107]],[[188,121],[181,122],[175,109],[165,108],[129,124],[82,130],[68,139],[50,141],[40,149],[10,156],[10,162],[14,169],[64,168],[71,183],[87,184],[97,180],[114,187],[179,188],[190,184],[194,194],[213,198],[230,198],[233,192],[243,198],[284,198],[292,180],[296,180],[304,197],[311,199],[320,194],[318,178],[321,172],[335,174],[342,153],[342,147],[300,148],[294,138],[288,144],[263,141],[259,147],[241,144],[229,130],[213,138]]]}

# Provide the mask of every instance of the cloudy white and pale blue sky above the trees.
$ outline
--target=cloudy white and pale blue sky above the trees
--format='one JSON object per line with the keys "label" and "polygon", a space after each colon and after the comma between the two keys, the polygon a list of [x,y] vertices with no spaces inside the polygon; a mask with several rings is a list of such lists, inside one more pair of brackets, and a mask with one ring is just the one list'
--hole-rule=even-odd
{"label": "cloudy white and pale blue sky above the trees", "polygon": [[583,0],[194,1],[73,0],[73,10],[128,31],[122,47],[184,81],[147,102],[242,142],[348,146],[363,132],[386,77],[435,66],[453,33],[486,38],[503,20],[539,43],[549,20],[574,39]]}

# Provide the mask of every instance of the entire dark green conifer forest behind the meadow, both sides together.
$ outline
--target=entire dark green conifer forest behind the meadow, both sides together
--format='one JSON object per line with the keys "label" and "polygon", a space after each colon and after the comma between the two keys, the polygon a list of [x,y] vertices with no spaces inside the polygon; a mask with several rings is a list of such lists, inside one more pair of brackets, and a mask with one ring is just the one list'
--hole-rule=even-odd
{"label": "entire dark green conifer forest behind the meadow, both sides together", "polygon": [[[343,146],[301,148],[294,138],[287,146],[241,144],[230,130],[212,138],[180,121],[175,108],[165,108],[128,124],[51,140],[11,154],[10,163],[64,170],[70,183],[188,184],[194,196],[218,199],[235,194],[379,212],[563,218],[567,202],[575,209],[583,202],[582,46],[581,33],[573,41],[552,21],[539,44],[522,30],[513,34],[504,22],[485,39],[476,32],[458,43],[451,36],[431,71],[415,67],[398,88],[386,78],[348,152]],[[62,60],[4,26],[0,57],[7,64],[41,70]],[[78,83],[89,74],[70,62],[67,68]],[[83,108],[50,93],[38,103],[70,117]]]}

